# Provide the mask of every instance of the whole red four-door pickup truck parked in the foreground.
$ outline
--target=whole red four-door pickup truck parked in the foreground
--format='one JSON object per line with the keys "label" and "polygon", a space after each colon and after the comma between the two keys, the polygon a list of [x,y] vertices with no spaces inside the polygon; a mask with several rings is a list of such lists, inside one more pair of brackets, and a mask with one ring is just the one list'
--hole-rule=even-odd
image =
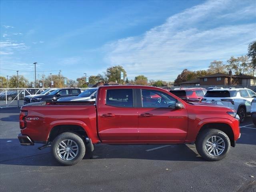
{"label": "whole red four-door pickup truck parked in the foreground", "polygon": [[206,160],[223,159],[240,137],[236,111],[189,103],[161,88],[101,86],[96,102],[37,102],[20,111],[21,145],[43,143],[63,165],[84,157],[85,144],[196,144]]}

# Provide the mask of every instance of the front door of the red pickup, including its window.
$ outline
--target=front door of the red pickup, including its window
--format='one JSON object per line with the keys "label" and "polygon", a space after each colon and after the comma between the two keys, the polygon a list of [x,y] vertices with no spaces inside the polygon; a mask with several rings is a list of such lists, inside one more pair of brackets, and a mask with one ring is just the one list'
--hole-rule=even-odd
{"label": "front door of the red pickup, including its window", "polygon": [[141,90],[138,108],[139,140],[145,142],[184,142],[188,132],[186,108],[175,109],[176,99],[156,90]]}

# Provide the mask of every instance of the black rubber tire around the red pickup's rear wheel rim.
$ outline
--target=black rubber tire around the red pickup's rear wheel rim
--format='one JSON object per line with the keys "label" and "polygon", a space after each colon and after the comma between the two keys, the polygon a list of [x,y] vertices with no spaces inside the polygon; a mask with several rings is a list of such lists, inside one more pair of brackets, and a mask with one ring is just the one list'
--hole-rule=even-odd
{"label": "black rubber tire around the red pickup's rear wheel rim", "polygon": [[[77,152],[76,156],[74,157],[74,159],[64,160],[63,158],[61,158],[59,156],[57,149],[58,149],[59,143],[63,140],[72,140],[77,144],[78,152]],[[65,149],[65,151],[66,151],[66,149]],[[74,165],[74,164],[77,164],[78,162],[80,162],[85,155],[85,151],[86,151],[86,148],[85,148],[85,142],[84,142],[83,138],[81,138],[80,136],[78,136],[77,134],[72,133],[72,132],[64,132],[62,134],[59,134],[53,140],[52,146],[51,146],[52,156],[58,163],[60,163],[64,166],[71,166],[71,165]]]}

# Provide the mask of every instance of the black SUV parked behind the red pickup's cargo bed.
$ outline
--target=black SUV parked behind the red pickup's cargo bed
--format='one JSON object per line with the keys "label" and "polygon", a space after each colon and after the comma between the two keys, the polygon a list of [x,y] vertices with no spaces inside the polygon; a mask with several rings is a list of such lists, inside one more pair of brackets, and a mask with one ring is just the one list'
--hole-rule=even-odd
{"label": "black SUV parked behind the red pickup's cargo bed", "polygon": [[39,101],[56,101],[59,98],[70,97],[70,96],[78,96],[81,93],[80,89],[76,88],[64,88],[64,89],[56,89],[48,95],[35,96],[31,99],[31,102],[39,102]]}

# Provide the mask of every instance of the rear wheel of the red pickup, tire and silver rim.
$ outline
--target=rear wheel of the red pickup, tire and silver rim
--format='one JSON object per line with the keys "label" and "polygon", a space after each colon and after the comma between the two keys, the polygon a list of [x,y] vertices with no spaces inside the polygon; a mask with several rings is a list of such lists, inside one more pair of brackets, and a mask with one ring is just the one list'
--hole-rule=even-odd
{"label": "rear wheel of the red pickup, tire and silver rim", "polygon": [[77,164],[85,154],[84,140],[77,134],[64,132],[53,140],[51,153],[64,166]]}

